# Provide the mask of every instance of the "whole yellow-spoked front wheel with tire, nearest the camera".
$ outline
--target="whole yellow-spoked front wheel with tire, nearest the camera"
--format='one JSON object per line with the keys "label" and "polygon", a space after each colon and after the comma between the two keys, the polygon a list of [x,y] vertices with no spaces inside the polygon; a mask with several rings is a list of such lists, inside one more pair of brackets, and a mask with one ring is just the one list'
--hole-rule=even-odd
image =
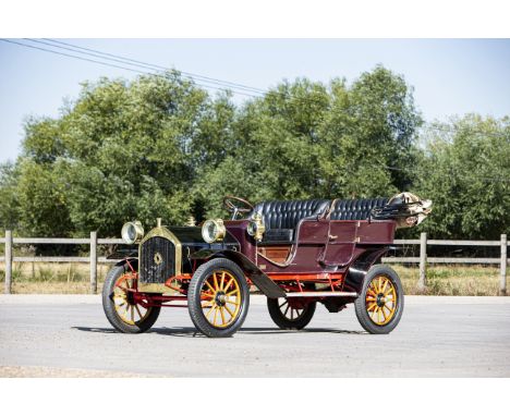
{"label": "whole yellow-spoked front wheel with tire, nearest the camera", "polygon": [[239,266],[224,258],[212,259],[196,269],[190,282],[190,316],[205,335],[230,337],[246,318],[248,296]]}

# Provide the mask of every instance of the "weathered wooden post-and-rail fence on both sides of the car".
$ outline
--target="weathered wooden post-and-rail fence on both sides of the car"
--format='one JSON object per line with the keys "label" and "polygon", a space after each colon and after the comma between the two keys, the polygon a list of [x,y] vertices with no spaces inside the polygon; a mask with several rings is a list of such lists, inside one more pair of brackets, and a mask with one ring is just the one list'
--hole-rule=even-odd
{"label": "weathered wooden post-and-rail fence on both sides of the car", "polygon": [[[105,244],[125,244],[121,238],[98,238],[96,232],[90,233],[90,238],[25,238],[12,237],[12,231],[5,231],[5,237],[0,238],[5,245],[4,257],[0,262],[5,262],[4,293],[11,293],[12,264],[13,262],[88,262],[90,265],[90,293],[97,293],[97,265],[104,262],[117,262],[105,257],[97,256],[97,246]],[[13,244],[87,244],[90,246],[88,257],[13,257]],[[404,262],[420,265],[418,287],[425,289],[427,264],[471,264],[471,265],[499,265],[500,281],[499,295],[507,294],[507,235],[501,234],[499,241],[467,241],[467,240],[427,240],[427,234],[422,233],[420,240],[396,240],[393,245],[420,245],[420,257],[385,257],[382,262]],[[499,246],[500,257],[428,257],[427,246]]]}

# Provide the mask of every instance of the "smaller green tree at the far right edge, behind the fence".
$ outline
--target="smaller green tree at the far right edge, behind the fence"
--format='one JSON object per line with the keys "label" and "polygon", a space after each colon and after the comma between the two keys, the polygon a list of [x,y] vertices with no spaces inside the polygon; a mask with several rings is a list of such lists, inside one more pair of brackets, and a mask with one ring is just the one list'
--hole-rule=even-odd
{"label": "smaller green tree at the far right edge, behind the fence", "polygon": [[416,189],[433,199],[433,237],[498,240],[510,231],[510,119],[469,114],[428,131]]}

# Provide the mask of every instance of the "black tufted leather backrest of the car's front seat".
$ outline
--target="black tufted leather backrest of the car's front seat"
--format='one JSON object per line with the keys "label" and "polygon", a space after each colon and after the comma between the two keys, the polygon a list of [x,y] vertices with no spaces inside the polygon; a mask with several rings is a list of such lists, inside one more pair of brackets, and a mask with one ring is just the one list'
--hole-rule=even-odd
{"label": "black tufted leather backrest of the car's front seat", "polygon": [[267,230],[294,229],[303,218],[324,213],[329,205],[328,199],[266,200],[253,208],[250,218],[260,213]]}

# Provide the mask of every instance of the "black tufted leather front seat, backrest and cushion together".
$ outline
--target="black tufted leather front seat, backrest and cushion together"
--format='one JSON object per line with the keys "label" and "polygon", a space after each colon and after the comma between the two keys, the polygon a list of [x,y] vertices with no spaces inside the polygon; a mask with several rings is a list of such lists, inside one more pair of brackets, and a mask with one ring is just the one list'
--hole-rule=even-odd
{"label": "black tufted leather front seat, backrest and cushion together", "polygon": [[263,243],[291,243],[298,223],[324,215],[329,205],[328,199],[267,200],[257,204],[250,218],[256,212],[262,215],[266,225]]}

